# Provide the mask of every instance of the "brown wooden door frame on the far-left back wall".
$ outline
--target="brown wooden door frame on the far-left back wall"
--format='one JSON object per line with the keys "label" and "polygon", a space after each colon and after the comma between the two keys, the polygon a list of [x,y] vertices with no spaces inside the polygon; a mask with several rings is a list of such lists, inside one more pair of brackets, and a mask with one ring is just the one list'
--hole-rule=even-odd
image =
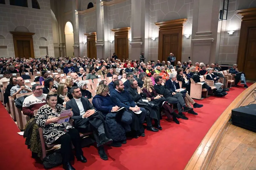
{"label": "brown wooden door frame on the far-left back wall", "polygon": [[29,41],[30,56],[31,56],[31,58],[35,58],[34,44],[33,44],[33,37],[32,37],[35,33],[16,32],[16,31],[10,31],[10,33],[13,35],[13,46],[14,46],[15,57],[16,58],[20,57],[20,56],[18,56],[17,41]]}

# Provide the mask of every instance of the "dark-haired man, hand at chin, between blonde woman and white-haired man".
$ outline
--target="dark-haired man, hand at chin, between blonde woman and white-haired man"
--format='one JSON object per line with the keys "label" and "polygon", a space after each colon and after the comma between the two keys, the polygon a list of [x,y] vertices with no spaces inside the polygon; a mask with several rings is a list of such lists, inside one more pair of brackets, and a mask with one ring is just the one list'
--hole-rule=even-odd
{"label": "dark-haired man, hand at chin, between blonde woman and white-haired man", "polygon": [[180,93],[175,93],[172,90],[169,90],[164,84],[162,76],[157,76],[155,78],[154,89],[157,94],[163,95],[166,98],[166,101],[171,104],[176,104],[178,106],[178,112],[182,119],[188,120],[188,118],[182,112],[188,112],[193,110],[193,108],[188,108],[183,99],[183,95]]}

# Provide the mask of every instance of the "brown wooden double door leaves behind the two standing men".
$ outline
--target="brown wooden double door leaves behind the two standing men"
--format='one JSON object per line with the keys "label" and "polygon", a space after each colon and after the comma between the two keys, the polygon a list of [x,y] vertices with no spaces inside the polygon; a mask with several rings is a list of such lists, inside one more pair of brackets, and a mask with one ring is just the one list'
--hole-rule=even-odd
{"label": "brown wooden double door leaves behind the two standing men", "polygon": [[177,55],[177,53],[178,53],[178,41],[179,41],[178,40],[178,34],[170,34],[170,35],[164,35],[163,36],[162,61],[166,62],[168,56],[170,56],[170,53],[173,53],[174,56]]}

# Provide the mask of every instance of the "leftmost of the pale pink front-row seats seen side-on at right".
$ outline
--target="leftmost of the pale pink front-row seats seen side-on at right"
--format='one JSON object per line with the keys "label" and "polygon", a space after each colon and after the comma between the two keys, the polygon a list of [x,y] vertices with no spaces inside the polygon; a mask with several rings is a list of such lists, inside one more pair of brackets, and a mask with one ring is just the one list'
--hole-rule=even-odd
{"label": "leftmost of the pale pink front-row seats seen side-on at right", "polygon": [[202,88],[202,84],[195,83],[195,81],[190,78],[190,97],[193,99],[202,99],[203,97],[207,97],[208,91],[205,88]]}

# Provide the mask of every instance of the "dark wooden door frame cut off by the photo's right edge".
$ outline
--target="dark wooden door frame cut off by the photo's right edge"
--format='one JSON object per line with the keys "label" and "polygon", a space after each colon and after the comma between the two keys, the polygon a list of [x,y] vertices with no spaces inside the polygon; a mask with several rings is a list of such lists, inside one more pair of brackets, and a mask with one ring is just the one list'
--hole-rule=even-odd
{"label": "dark wooden door frame cut off by the photo's right edge", "polygon": [[240,29],[237,64],[238,70],[244,71],[249,28],[256,27],[256,8],[236,10],[236,12],[243,16]]}

